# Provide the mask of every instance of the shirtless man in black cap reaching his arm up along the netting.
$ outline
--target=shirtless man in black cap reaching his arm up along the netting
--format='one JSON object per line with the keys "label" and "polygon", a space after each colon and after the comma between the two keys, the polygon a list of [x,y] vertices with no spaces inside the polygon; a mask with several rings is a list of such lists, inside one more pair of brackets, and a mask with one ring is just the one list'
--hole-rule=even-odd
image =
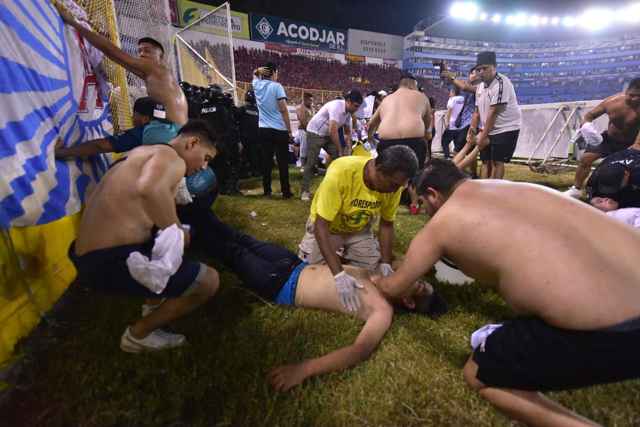
{"label": "shirtless man in black cap reaching his arm up along the netting", "polygon": [[173,74],[162,65],[164,48],[159,42],[143,37],[138,40],[138,56],[129,55],[106,38],[81,26],[60,3],[55,3],[55,6],[62,20],[76,29],[93,47],[145,81],[147,95],[164,105],[167,120],[180,126],[187,123],[187,99]]}

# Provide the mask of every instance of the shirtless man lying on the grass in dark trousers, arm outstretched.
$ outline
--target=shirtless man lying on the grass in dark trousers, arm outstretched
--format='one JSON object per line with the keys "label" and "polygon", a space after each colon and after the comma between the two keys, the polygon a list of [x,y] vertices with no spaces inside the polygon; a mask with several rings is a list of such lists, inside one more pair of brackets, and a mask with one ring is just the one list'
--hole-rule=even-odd
{"label": "shirtless man lying on the grass in dark trousers, arm outstretched", "polygon": [[268,379],[277,390],[289,391],[308,377],[349,368],[367,359],[387,333],[394,306],[429,316],[446,311],[440,293],[425,281],[415,280],[412,287],[393,299],[385,299],[369,280],[367,270],[344,265],[349,276],[364,286],[364,289],[358,289],[362,308],[350,312],[340,302],[328,266],[308,265],[307,261],[302,261],[282,246],[260,242],[232,229],[206,206],[197,205],[195,208],[200,212],[191,212],[199,217],[198,221],[202,222],[204,215],[208,215],[210,220],[205,230],[196,231],[194,242],[197,241],[198,247],[230,268],[244,288],[276,304],[338,311],[365,322],[353,345],[317,359],[280,366],[271,372]]}

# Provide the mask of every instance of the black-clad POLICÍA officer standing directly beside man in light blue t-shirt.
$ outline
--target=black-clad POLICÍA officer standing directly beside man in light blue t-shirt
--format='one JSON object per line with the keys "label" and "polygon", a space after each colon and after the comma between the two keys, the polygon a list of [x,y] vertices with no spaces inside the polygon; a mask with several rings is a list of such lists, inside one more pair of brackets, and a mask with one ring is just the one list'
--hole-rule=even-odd
{"label": "black-clad POLIC\u00cdA officer standing directly beside man in light blue t-shirt", "polygon": [[240,157],[240,177],[248,178],[247,162],[251,175],[255,178],[262,176],[260,173],[260,141],[258,139],[258,104],[255,102],[255,94],[248,91],[244,95],[245,104],[238,109],[238,130],[240,141],[243,145]]}

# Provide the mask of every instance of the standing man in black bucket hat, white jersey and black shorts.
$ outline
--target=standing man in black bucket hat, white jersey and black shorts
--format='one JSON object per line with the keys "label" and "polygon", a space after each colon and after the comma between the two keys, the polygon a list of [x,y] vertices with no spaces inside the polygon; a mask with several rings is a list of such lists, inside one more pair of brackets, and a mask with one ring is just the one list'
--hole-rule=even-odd
{"label": "standing man in black bucket hat, white jersey and black shorts", "polygon": [[[475,129],[480,121],[484,129],[477,136],[480,148],[480,178],[504,177],[504,164],[511,161],[518,143],[522,113],[518,107],[513,84],[496,72],[495,52],[480,52],[476,72],[481,83],[476,91],[476,112],[471,121]],[[476,139],[476,137],[472,137]]]}

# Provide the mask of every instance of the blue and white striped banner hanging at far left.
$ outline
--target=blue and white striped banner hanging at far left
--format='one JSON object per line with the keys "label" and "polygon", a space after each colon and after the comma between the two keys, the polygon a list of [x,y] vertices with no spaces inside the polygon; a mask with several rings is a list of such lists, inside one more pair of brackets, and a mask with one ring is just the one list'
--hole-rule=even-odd
{"label": "blue and white striped banner hanging at far left", "polygon": [[[0,225],[33,226],[79,212],[111,154],[54,158],[58,136],[78,143],[113,134],[108,97],[83,39],[48,1],[3,2],[0,26]],[[41,12],[42,11],[42,12]]]}

